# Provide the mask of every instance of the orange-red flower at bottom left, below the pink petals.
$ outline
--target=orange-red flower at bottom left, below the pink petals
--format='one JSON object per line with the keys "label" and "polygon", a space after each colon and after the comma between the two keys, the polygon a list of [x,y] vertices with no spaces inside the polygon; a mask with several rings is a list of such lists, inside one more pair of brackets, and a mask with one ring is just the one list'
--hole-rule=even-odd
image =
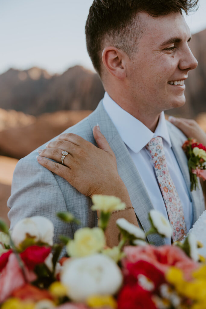
{"label": "orange-red flower at bottom left, below the pink petals", "polygon": [[11,296],[34,302],[38,302],[42,299],[53,299],[52,295],[47,290],[40,290],[36,286],[32,286],[29,283],[16,289]]}

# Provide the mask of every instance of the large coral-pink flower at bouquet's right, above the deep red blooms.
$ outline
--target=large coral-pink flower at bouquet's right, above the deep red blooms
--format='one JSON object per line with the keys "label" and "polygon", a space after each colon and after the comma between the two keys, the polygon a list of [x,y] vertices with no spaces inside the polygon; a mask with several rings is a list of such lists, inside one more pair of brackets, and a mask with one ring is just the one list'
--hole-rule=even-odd
{"label": "large coral-pink flower at bouquet's right, above the deep red blooms", "polygon": [[128,263],[136,263],[139,260],[153,264],[163,273],[169,266],[175,266],[182,269],[187,280],[191,278],[191,272],[198,268],[198,263],[191,260],[180,248],[175,246],[127,246],[124,248],[124,252],[126,253],[126,258],[122,260],[124,273]]}

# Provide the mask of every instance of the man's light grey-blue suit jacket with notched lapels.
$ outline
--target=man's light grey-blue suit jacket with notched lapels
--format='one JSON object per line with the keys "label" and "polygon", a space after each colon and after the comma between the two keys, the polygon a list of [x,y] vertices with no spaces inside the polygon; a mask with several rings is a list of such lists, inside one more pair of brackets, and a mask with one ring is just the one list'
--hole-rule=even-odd
{"label": "man's light grey-blue suit jacket with notched lapels", "polygon": [[[150,228],[148,213],[153,209],[152,201],[149,198],[145,185],[131,159],[127,147],[103,108],[102,101],[92,114],[67,129],[64,133],[78,134],[95,144],[92,129],[97,123],[116,155],[118,172],[128,189],[138,222],[144,231],[148,231]],[[190,192],[187,158],[182,150],[182,145],[186,137],[170,122],[167,122],[167,125],[172,149],[193,202],[195,222],[204,211],[202,189],[199,184],[200,189],[192,193]],[[46,144],[39,148],[44,149]],[[73,238],[73,234],[78,229],[78,226],[73,223],[65,224],[57,219],[56,213],[59,211],[72,212],[75,217],[80,219],[82,226],[96,226],[97,214],[90,210],[90,206],[92,205],[91,199],[79,193],[65,179],[42,167],[37,162],[36,155],[38,155],[37,150],[34,150],[31,154],[19,160],[15,168],[11,197],[8,200],[8,207],[11,208],[8,214],[11,221],[11,228],[21,218],[43,215],[54,223],[56,237],[54,241],[57,241],[57,235],[67,235]],[[165,243],[164,239],[158,235],[150,235],[148,241],[156,245]]]}

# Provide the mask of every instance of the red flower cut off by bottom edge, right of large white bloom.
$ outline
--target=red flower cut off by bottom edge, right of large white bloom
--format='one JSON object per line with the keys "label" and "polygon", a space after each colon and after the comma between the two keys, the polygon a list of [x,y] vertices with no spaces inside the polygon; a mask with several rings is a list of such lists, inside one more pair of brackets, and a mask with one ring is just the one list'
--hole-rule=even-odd
{"label": "red flower cut off by bottom edge, right of large white bloom", "polygon": [[156,309],[151,293],[141,286],[125,285],[118,295],[117,303],[118,309]]}

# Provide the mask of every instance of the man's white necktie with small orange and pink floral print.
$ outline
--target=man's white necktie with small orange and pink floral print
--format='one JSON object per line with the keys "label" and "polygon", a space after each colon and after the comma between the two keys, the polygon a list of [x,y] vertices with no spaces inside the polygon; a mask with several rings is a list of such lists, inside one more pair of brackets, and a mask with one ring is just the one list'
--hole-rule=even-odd
{"label": "man's white necktie with small orange and pink floral print", "polygon": [[187,232],[182,203],[167,167],[163,142],[160,136],[152,138],[146,145],[152,158],[162,197],[165,202],[170,224],[173,228],[173,241]]}

